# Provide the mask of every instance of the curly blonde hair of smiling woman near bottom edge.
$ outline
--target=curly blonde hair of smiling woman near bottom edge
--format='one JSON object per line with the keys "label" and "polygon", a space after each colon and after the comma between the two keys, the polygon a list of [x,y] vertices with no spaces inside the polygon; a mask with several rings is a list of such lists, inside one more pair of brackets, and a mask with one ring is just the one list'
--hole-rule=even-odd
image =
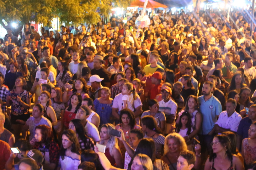
{"label": "curly blonde hair of smiling woman near bottom edge", "polygon": [[169,134],[165,137],[164,155],[166,155],[169,152],[169,147],[168,147],[169,139],[176,139],[178,141],[178,143],[180,144],[180,151],[187,150],[187,144],[186,144],[184,138],[180,134],[175,132],[175,133]]}

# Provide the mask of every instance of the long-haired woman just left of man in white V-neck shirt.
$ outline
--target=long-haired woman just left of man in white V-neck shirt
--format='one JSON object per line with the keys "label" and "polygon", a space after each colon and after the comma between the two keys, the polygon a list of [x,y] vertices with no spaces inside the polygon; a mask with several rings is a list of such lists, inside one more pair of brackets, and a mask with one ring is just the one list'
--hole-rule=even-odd
{"label": "long-haired woman just left of man in white V-neck shirt", "polygon": [[236,90],[236,91],[240,92],[242,87],[247,87],[247,85],[245,84],[244,76],[242,75],[241,72],[236,72],[236,74],[233,75],[233,77],[231,79],[231,83],[229,84],[229,86],[227,88],[227,93],[230,90]]}

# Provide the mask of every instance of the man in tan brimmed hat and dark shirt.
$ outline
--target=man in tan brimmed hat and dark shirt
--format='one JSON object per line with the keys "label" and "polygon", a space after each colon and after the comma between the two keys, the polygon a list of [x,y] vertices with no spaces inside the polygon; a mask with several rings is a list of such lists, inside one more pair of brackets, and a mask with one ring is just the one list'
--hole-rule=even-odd
{"label": "man in tan brimmed hat and dark shirt", "polygon": [[[102,79],[102,85],[110,88],[110,77],[111,73],[106,70],[102,65],[105,64],[106,61],[103,60],[103,57],[100,55],[96,55],[94,57],[94,69],[91,70],[91,75],[99,75]],[[91,82],[91,80],[90,80]],[[91,82],[92,83],[92,82]]]}

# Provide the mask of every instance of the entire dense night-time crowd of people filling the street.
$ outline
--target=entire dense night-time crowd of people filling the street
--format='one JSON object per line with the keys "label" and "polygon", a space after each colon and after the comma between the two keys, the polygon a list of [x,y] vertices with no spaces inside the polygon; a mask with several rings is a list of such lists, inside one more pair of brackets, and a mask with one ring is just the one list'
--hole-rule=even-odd
{"label": "entire dense night-time crowd of people filling the street", "polygon": [[140,12],[7,29],[0,170],[256,169],[250,11]]}

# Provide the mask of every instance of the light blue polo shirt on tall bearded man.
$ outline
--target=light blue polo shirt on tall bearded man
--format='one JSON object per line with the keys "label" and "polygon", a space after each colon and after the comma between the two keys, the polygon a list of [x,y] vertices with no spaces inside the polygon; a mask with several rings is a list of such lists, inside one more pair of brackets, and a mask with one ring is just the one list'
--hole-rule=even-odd
{"label": "light blue polo shirt on tall bearded man", "polygon": [[198,97],[199,110],[202,113],[202,135],[207,135],[214,127],[217,121],[217,116],[222,112],[222,105],[220,101],[212,95],[212,97],[205,101],[204,96]]}

